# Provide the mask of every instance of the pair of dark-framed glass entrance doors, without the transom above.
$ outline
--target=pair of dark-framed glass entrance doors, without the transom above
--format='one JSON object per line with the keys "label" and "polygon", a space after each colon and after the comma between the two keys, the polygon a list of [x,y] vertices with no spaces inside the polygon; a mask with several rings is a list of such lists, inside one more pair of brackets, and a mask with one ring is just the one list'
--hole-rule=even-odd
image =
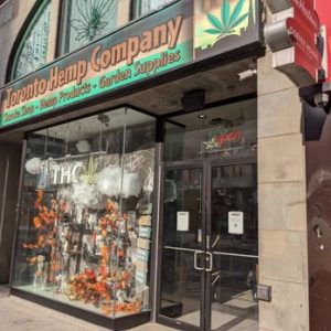
{"label": "pair of dark-framed glass entrance doors, without the transom above", "polygon": [[182,330],[258,330],[254,160],[163,168],[158,320]]}

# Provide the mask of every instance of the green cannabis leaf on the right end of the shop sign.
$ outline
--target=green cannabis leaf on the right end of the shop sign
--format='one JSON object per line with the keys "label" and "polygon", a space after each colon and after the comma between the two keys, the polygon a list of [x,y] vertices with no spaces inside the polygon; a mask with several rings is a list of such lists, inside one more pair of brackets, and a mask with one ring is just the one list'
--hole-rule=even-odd
{"label": "green cannabis leaf on the right end of the shop sign", "polygon": [[205,30],[209,34],[218,34],[217,40],[224,35],[235,33],[235,28],[244,22],[249,12],[241,15],[245,0],[239,0],[231,13],[229,0],[224,0],[221,7],[221,20],[218,20],[214,14],[207,13],[209,21],[214,26],[213,29]]}

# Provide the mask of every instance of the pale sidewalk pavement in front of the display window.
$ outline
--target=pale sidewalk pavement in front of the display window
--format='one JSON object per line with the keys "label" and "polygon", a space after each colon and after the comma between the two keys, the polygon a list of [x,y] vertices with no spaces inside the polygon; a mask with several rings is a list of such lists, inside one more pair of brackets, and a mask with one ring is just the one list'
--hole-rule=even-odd
{"label": "pale sidewalk pavement in front of the display window", "polygon": [[[0,287],[0,331],[106,331],[68,314],[54,311],[14,296]],[[171,331],[163,325],[149,323],[131,331]]]}

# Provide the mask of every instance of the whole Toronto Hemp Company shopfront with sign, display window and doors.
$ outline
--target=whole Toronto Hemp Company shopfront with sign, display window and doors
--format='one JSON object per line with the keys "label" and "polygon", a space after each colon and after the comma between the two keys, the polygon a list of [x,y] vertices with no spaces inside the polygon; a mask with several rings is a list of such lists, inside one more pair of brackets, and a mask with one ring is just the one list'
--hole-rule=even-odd
{"label": "whole Toronto Hemp Company shopfront with sign, display window and doors", "polygon": [[257,330],[260,14],[173,1],[2,88],[0,135],[24,134],[11,293],[113,329]]}

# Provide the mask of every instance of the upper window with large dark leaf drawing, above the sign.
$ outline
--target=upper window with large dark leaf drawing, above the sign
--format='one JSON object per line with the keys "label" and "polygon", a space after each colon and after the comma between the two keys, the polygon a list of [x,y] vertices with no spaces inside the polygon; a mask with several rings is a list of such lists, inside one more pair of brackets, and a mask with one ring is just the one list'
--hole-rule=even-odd
{"label": "upper window with large dark leaf drawing, above the sign", "polygon": [[62,53],[76,50],[114,31],[120,0],[66,0]]}

